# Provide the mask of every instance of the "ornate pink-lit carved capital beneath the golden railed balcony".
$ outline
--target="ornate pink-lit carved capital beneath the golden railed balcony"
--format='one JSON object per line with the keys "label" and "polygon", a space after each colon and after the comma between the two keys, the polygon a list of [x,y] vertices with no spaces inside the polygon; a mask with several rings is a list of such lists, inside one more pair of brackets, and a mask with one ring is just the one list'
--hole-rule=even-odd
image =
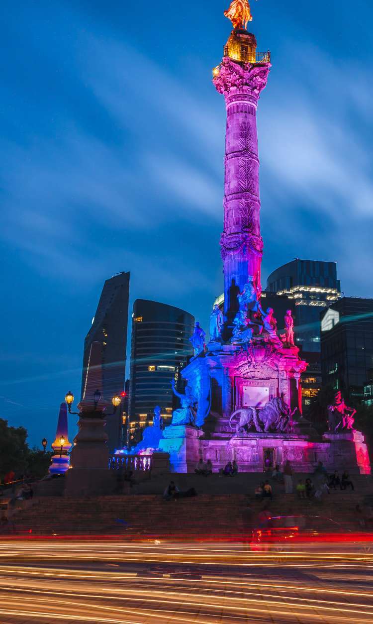
{"label": "ornate pink-lit carved capital beneath the golden railed balcony", "polygon": [[241,65],[226,56],[218,68],[213,83],[216,90],[224,95],[230,95],[237,89],[242,89],[258,99],[260,92],[267,84],[270,69],[270,63],[260,65],[244,63]]}

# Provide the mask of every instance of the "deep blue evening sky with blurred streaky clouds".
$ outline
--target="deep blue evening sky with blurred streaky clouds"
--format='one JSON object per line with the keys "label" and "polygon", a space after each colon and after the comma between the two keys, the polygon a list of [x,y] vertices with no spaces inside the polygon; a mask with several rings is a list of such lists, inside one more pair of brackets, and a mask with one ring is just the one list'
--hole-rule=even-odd
{"label": "deep blue evening sky with blurred streaky clouds", "polygon": [[[0,417],[52,441],[79,396],[105,278],[206,325],[222,290],[229,0],[2,0]],[[373,4],[259,0],[273,69],[258,112],[263,283],[334,260],[373,296]],[[74,417],[71,417],[74,424]]]}

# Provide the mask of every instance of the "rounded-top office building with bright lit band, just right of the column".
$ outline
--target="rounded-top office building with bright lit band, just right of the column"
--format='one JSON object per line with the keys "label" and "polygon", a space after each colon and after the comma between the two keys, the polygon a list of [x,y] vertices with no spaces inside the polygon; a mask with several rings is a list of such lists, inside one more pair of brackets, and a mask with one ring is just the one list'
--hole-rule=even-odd
{"label": "rounded-top office building with bright lit band, just right of the column", "polygon": [[295,339],[303,355],[306,351],[320,352],[321,308],[327,308],[341,295],[336,263],[293,260],[269,275],[266,291],[294,301]]}

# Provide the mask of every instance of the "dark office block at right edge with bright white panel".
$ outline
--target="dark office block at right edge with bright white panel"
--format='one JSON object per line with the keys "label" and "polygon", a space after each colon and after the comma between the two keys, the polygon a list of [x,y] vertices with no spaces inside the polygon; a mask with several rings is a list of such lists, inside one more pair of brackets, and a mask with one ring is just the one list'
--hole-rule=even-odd
{"label": "dark office block at right edge with bright white panel", "polygon": [[369,404],[373,369],[373,299],[343,297],[322,314],[322,383]]}

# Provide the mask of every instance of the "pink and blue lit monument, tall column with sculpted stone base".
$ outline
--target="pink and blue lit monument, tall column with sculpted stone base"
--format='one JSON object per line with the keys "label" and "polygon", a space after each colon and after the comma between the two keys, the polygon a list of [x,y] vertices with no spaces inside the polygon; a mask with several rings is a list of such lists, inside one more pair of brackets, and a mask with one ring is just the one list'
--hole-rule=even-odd
{"label": "pink and blue lit monument, tall column with sculpted stone base", "polygon": [[[261,305],[256,114],[269,61],[269,52],[256,52],[253,34],[237,27],[224,48],[223,61],[213,70],[213,83],[226,105],[220,240],[224,314],[217,324],[214,308],[210,341],[195,346],[195,356],[181,371],[191,404],[188,419],[180,421],[180,410],[175,411],[158,449],[170,453],[175,472],[193,471],[202,457],[211,459],[215,470],[235,460],[240,471],[263,472],[289,460],[299,472],[312,472],[322,461],[331,471],[370,474],[360,432],[342,427],[319,436],[303,417],[300,379],[308,364],[294,345],[291,312],[281,337],[276,332],[276,311]],[[202,331],[198,326],[195,334],[197,330]],[[196,344],[196,335],[193,341]]]}

